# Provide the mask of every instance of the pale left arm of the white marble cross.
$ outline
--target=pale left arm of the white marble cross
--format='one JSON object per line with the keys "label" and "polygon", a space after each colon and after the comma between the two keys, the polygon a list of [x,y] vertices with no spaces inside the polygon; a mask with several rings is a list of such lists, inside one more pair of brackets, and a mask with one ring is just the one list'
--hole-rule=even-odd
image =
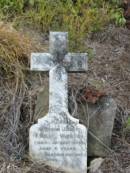
{"label": "pale left arm of the white marble cross", "polygon": [[32,53],[31,70],[49,71],[54,66],[53,57],[49,53]]}

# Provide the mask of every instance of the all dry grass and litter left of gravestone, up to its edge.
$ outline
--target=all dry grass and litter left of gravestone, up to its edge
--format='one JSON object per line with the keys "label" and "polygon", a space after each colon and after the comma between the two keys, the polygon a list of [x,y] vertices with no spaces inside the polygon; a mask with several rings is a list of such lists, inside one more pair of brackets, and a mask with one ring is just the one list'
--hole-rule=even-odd
{"label": "all dry grass and litter left of gravestone, up to its edge", "polygon": [[11,25],[0,25],[0,173],[58,172],[28,156],[35,98],[43,86],[40,74],[29,70],[31,52],[43,49],[33,43]]}

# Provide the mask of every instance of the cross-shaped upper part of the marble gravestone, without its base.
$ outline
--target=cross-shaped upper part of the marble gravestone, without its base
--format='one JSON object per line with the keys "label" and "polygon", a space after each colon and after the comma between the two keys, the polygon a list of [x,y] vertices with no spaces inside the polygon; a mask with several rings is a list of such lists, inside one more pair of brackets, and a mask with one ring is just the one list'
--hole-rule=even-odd
{"label": "cross-shaped upper part of the marble gravestone, without its base", "polygon": [[87,70],[86,53],[68,53],[68,33],[50,32],[50,53],[32,53],[31,70],[49,71],[49,111],[68,110],[67,71]]}

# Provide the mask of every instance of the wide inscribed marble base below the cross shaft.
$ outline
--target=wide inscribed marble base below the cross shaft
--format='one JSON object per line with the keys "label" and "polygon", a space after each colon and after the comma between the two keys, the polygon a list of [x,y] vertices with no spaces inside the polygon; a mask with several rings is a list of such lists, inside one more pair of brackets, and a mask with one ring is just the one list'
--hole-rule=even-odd
{"label": "wide inscribed marble base below the cross shaft", "polygon": [[49,113],[31,127],[31,157],[67,172],[86,173],[87,130],[67,114]]}

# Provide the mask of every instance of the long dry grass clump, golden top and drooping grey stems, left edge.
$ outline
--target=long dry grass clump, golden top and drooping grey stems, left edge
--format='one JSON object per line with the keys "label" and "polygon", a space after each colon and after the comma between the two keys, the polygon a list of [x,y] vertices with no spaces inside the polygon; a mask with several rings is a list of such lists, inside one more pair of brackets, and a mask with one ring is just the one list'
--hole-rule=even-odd
{"label": "long dry grass clump, golden top and drooping grey stems, left edge", "polygon": [[[1,152],[10,157],[20,157],[21,105],[26,93],[25,65],[28,63],[31,44],[9,25],[0,26],[0,144]],[[13,156],[12,156],[13,155]]]}

